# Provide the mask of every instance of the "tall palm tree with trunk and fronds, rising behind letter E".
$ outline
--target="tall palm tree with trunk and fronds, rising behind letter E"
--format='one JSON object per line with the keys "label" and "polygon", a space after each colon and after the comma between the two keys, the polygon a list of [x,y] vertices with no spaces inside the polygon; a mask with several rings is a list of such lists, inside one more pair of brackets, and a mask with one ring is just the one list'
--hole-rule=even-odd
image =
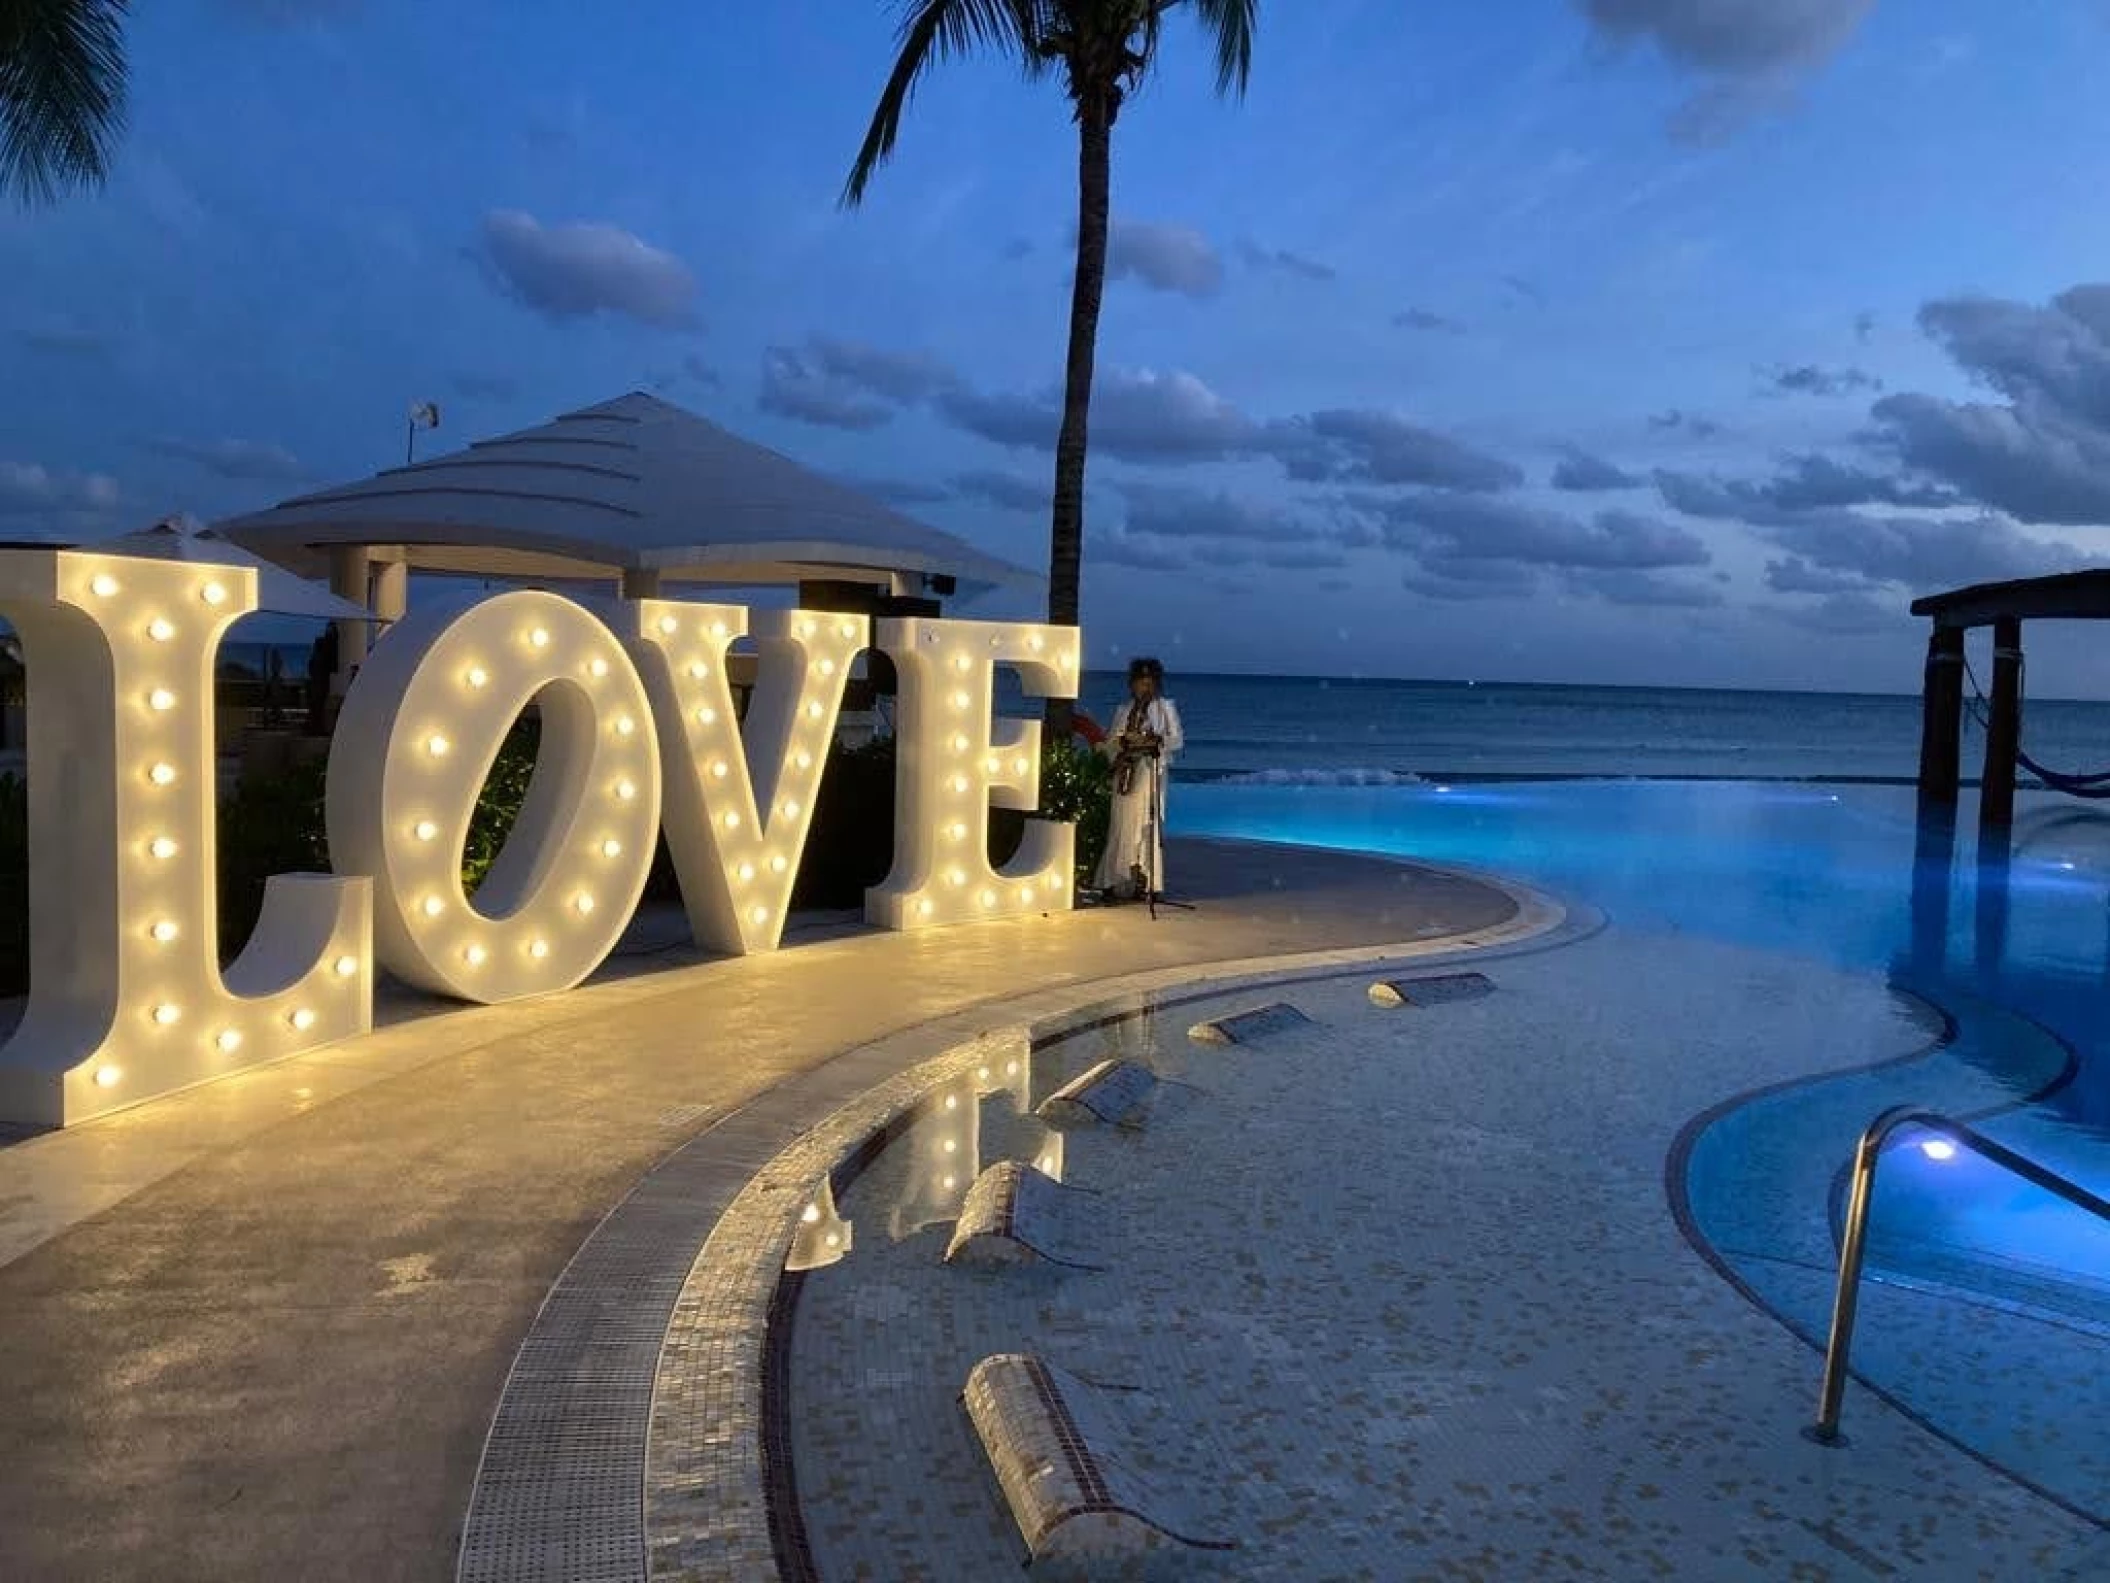
{"label": "tall palm tree with trunk and fronds, rising behind letter E", "polygon": [[[1215,46],[1220,93],[1245,93],[1260,0],[903,0],[901,53],[857,152],[844,205],[863,201],[874,173],[901,135],[901,112],[922,74],[952,55],[1009,55],[1025,74],[1061,72],[1076,114],[1076,283],[1070,298],[1070,361],[1061,435],[1055,441],[1055,521],[1049,532],[1049,621],[1076,625],[1085,551],[1085,443],[1091,371],[1106,295],[1106,213],[1112,186],[1114,120],[1148,76],[1158,30],[1188,8]],[[1068,728],[1068,722],[1063,722]]]}

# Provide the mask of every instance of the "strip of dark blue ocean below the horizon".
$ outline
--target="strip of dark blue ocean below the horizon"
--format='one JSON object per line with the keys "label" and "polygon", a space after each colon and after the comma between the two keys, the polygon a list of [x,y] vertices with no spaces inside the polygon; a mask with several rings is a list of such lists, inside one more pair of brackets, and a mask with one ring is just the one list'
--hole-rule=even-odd
{"label": "strip of dark blue ocean below the horizon", "polygon": [[[1570,777],[1888,781],[1918,775],[1920,701],[1701,688],[1175,675],[1188,781],[1386,785]],[[1120,675],[1091,673],[1110,720]],[[2057,770],[2110,768],[2110,703],[2032,701],[2023,747]],[[1964,777],[1983,737],[1967,720]]]}

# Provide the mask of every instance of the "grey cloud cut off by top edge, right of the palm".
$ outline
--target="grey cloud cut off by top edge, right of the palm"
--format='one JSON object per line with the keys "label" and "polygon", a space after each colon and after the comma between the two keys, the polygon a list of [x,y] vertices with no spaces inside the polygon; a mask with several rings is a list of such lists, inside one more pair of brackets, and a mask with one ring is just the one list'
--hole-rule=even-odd
{"label": "grey cloud cut off by top edge, right of the palm", "polygon": [[1682,141],[1720,141],[1779,108],[1829,61],[1876,0],[1576,0],[1614,44],[1650,42],[1701,89],[1671,116]]}

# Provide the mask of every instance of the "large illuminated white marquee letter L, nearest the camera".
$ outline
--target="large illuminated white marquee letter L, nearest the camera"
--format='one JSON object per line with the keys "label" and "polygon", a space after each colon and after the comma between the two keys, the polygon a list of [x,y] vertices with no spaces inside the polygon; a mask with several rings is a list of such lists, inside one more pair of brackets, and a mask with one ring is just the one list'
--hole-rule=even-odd
{"label": "large illuminated white marquee letter L, nearest the camera", "polygon": [[219,971],[213,654],[255,572],[0,551],[30,737],[30,1007],[0,1117],[70,1125],[363,1034],[363,878],[281,874]]}

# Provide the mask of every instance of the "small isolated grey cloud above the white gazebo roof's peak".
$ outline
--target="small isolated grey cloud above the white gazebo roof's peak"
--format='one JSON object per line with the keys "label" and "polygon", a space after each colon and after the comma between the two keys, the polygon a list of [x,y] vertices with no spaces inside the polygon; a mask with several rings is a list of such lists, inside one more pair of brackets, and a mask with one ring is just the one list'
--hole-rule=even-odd
{"label": "small isolated grey cloud above the white gazebo roof's peak", "polygon": [[483,217],[477,258],[504,291],[544,319],[606,312],[660,329],[698,323],[688,266],[618,226],[544,226],[517,209],[494,209]]}

